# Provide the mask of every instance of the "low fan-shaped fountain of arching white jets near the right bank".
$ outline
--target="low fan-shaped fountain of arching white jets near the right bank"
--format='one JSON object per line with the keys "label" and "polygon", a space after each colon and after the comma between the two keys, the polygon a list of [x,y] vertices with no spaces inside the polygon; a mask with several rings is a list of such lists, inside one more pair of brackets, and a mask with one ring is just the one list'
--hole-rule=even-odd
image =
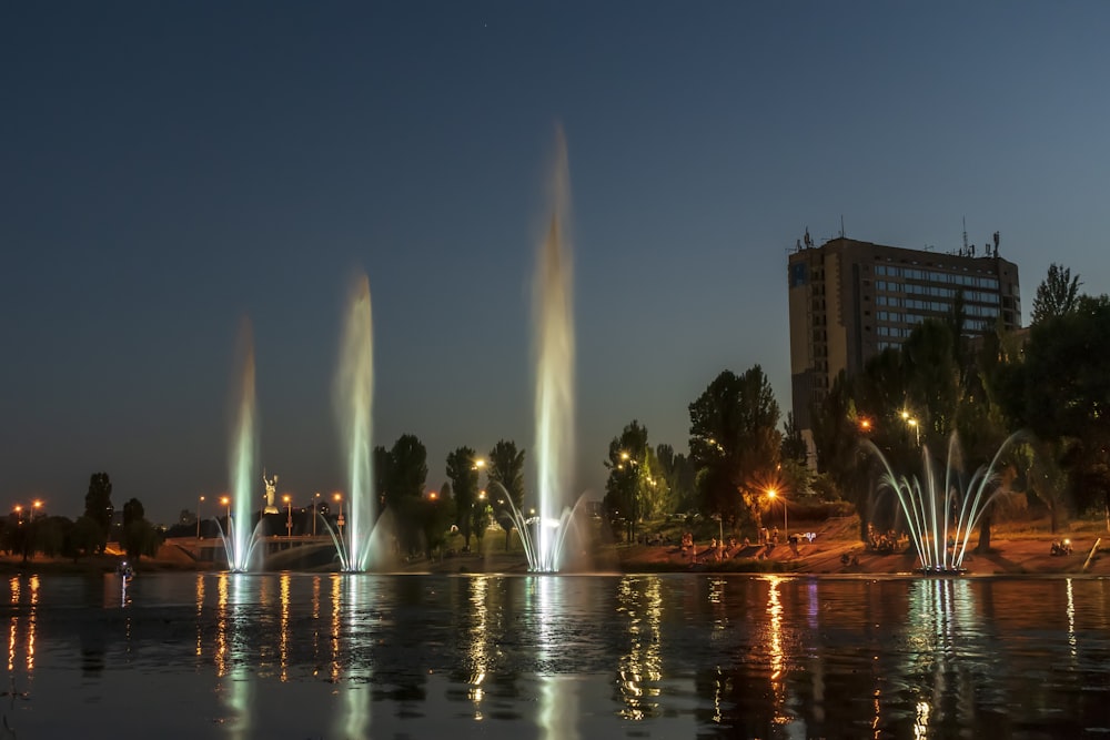
{"label": "low fan-shaped fountain of arching white jets near the right bank", "polygon": [[995,453],[990,465],[979,466],[966,485],[962,485],[961,479],[956,434],[948,440],[944,478],[938,476],[928,447],[922,446],[924,481],[915,476],[896,475],[879,448],[870,440],[865,443],[886,469],[880,484],[898,497],[922,572],[963,572],[963,557],[967,555],[971,533],[979,525],[987,506],[1002,493],[996,466],[1017,436],[1007,438]]}

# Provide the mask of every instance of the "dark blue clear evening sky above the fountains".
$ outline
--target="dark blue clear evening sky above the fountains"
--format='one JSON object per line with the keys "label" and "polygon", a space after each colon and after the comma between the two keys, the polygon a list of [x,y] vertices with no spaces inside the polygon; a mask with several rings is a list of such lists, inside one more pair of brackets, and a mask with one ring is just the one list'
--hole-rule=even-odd
{"label": "dark blue clear evening sky above the fountains", "polygon": [[[633,418],[754,364],[789,409],[808,226],[1001,232],[1107,292],[1102,2],[7,3],[0,503],[107,470],[172,520],[228,487],[239,322],[261,464],[344,488],[343,303],[370,278],[375,442],[531,450],[529,285],[555,124],[573,199],[578,485]],[[531,485],[529,477],[529,485]],[[259,493],[261,495],[261,480]]]}

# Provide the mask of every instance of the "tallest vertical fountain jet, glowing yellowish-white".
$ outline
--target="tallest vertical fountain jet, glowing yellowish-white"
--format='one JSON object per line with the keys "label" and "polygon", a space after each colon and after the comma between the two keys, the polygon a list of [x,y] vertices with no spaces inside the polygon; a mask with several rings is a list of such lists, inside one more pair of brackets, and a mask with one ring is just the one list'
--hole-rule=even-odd
{"label": "tallest vertical fountain jet, glowing yellowish-white", "polygon": [[[574,470],[574,316],[571,183],[563,130],[556,131],[552,215],[534,284],[536,465],[539,520],[533,570],[555,571],[566,535],[565,496]],[[529,561],[532,558],[529,558]]]}

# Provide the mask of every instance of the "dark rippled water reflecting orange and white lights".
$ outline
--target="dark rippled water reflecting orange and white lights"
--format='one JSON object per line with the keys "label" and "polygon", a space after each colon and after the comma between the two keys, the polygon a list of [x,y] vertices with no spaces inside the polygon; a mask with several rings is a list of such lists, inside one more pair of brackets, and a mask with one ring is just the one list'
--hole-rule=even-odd
{"label": "dark rippled water reflecting orange and white lights", "polygon": [[173,574],[8,590],[0,713],[19,738],[1110,733],[1098,578]]}

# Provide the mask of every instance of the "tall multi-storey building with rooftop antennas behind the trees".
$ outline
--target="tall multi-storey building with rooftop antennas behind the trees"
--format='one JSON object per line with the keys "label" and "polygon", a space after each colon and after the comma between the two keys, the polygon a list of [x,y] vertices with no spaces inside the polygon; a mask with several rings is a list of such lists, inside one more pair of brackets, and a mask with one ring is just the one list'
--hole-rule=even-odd
{"label": "tall multi-storey building with rooftop antennas behind the trees", "polygon": [[1018,266],[993,244],[946,254],[840,236],[790,253],[790,382],[795,424],[813,450],[813,408],[840,371],[849,376],[926,318],[951,315],[963,300],[963,331],[1021,326]]}

